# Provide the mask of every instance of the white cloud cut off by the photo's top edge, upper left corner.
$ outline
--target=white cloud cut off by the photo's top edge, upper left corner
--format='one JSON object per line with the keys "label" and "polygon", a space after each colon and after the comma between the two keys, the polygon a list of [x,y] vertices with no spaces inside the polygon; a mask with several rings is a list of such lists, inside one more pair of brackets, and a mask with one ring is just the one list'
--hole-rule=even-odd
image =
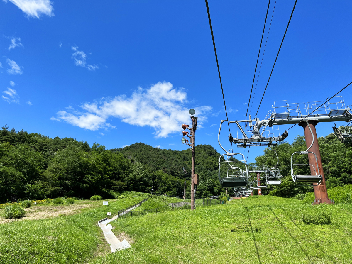
{"label": "white cloud cut off by the photo's top edge, upper left corner", "polygon": [[[3,0],[7,2],[7,0]],[[40,14],[53,16],[52,2],[50,0],[8,0],[15,4],[23,13],[26,13],[28,17],[39,18]]]}

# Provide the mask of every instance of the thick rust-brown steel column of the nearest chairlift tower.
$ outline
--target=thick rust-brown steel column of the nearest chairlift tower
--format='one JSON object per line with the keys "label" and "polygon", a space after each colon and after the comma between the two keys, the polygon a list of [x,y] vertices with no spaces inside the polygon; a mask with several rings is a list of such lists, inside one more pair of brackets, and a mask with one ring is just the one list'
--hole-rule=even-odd
{"label": "thick rust-brown steel column of the nearest chairlift tower", "polygon": [[[319,168],[320,175],[322,176],[322,180],[318,184],[318,186],[313,186],[314,196],[315,196],[315,201],[313,203],[314,205],[319,205],[319,203],[332,203],[328,197],[328,193],[326,190],[325,177],[324,177],[324,172],[323,172],[323,164],[321,162],[318,138],[316,136],[315,126],[316,126],[316,124],[318,124],[318,122],[319,122],[318,120],[309,120],[308,121],[309,127],[312,130],[313,136],[314,136],[314,142],[313,142],[312,147],[309,149],[309,151],[312,151],[315,153],[316,159],[318,161],[318,166],[315,162],[315,156],[312,153],[308,153],[309,164],[312,164],[314,166],[316,173],[318,173],[317,168]],[[303,127],[304,137],[306,138],[306,146],[309,147],[310,144],[312,144],[313,138],[312,138],[312,133],[310,133],[309,127],[307,125],[307,121],[302,121],[298,125]],[[315,174],[313,167],[312,166],[309,166],[309,167],[310,167],[310,175],[315,176],[316,174]]]}

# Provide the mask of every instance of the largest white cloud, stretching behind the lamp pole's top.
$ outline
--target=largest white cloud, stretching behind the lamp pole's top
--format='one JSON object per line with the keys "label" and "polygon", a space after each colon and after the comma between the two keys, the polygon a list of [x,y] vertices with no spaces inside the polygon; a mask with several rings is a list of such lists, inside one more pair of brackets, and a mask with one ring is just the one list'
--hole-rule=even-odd
{"label": "largest white cloud, stretching behind the lamp pole's top", "polygon": [[[182,123],[189,123],[189,108],[184,106],[187,94],[184,90],[175,89],[169,82],[158,82],[143,90],[139,88],[130,98],[125,95],[115,98],[102,98],[99,102],[84,103],[81,107],[86,112],[70,110],[59,111],[56,118],[71,125],[90,130],[112,127],[107,123],[111,117],[136,126],[150,126],[155,129],[155,137],[167,137],[182,130]],[[205,114],[211,106],[195,107],[198,117],[198,128],[207,120]]]}

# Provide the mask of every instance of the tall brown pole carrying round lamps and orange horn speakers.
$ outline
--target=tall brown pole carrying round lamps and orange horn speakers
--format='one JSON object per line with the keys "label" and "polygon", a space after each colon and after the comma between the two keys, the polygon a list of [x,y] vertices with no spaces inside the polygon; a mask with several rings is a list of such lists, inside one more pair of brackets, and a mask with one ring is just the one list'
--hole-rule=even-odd
{"label": "tall brown pole carrying round lamps and orange horn speakers", "polygon": [[[197,130],[197,117],[194,117],[192,115],[195,114],[194,109],[190,109],[189,113],[191,114],[191,120],[192,120],[192,127],[189,128],[188,125],[183,124],[182,128],[183,129],[188,129],[190,130],[190,136],[188,136],[188,132],[182,131],[183,136],[187,136],[190,138],[190,144],[188,143],[188,140],[186,138],[182,138],[181,142],[186,143],[188,146],[191,147],[192,150],[192,163],[191,163],[191,210],[194,210],[195,208],[195,192],[194,192],[194,159],[195,159],[195,143],[194,143],[194,136],[195,136],[195,131]],[[186,194],[185,194],[186,195]]]}

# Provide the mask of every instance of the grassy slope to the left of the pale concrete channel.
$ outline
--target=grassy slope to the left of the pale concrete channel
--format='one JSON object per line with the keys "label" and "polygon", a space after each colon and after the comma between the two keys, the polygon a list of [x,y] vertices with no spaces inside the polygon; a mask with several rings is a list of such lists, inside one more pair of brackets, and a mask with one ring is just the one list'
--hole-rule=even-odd
{"label": "grassy slope to the left of the pale concrete channel", "polygon": [[106,243],[101,239],[98,220],[105,218],[107,212],[115,215],[145,198],[110,200],[108,207],[82,209],[76,215],[0,224],[0,263],[86,262],[93,257],[97,245]]}

